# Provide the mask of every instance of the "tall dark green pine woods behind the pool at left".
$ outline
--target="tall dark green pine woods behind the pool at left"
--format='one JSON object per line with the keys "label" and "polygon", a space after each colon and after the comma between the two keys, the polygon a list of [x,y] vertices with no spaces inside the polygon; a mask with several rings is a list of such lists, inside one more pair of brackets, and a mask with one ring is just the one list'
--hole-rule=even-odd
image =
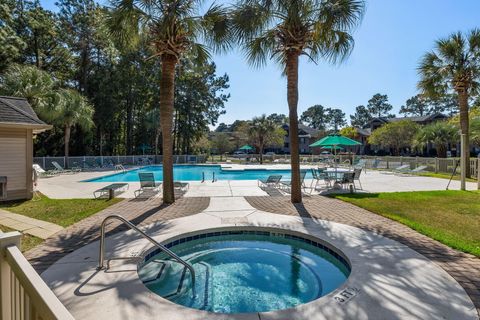
{"label": "tall dark green pine woods behind the pool at left", "polygon": [[[108,10],[97,1],[59,0],[57,6],[53,13],[36,1],[0,4],[0,93],[27,97],[42,119],[55,124],[35,139],[36,154],[64,155],[65,127],[45,112],[60,89],[80,91],[94,107],[93,126],[71,127],[70,155],[159,152],[161,74],[158,59],[149,59],[152,48],[143,39],[135,50],[113,41],[104,23]],[[228,76],[196,62],[183,59],[176,79],[178,153],[193,152],[229,97],[223,93]],[[12,63],[32,68],[6,78]]]}

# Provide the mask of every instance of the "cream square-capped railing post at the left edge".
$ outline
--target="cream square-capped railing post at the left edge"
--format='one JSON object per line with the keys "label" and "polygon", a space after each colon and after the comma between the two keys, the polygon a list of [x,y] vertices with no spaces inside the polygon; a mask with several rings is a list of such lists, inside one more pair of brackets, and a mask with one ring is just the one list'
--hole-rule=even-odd
{"label": "cream square-capped railing post at the left edge", "polygon": [[13,319],[11,269],[6,259],[6,248],[20,247],[22,234],[18,231],[0,233],[0,315],[2,319]]}

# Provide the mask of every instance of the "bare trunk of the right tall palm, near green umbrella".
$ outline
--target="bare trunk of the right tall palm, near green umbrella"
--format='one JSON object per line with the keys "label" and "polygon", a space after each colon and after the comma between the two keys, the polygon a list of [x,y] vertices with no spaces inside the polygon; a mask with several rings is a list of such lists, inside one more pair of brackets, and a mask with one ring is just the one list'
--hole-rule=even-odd
{"label": "bare trunk of the right tall palm, near green umbrella", "polygon": [[300,155],[298,141],[298,57],[297,52],[289,52],[287,55],[287,100],[288,116],[290,121],[290,157],[292,168],[291,201],[302,202],[302,189],[300,183]]}

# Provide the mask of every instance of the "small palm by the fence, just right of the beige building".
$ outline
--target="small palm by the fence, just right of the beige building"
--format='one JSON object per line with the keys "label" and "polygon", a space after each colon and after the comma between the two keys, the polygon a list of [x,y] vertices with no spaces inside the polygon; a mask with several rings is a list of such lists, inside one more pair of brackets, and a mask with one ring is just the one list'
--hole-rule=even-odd
{"label": "small palm by the fence, just right of the beige building", "polygon": [[61,89],[59,94],[61,103],[54,121],[59,127],[63,127],[65,157],[68,158],[72,127],[78,125],[84,130],[90,129],[94,125],[92,120],[94,109],[78,91]]}

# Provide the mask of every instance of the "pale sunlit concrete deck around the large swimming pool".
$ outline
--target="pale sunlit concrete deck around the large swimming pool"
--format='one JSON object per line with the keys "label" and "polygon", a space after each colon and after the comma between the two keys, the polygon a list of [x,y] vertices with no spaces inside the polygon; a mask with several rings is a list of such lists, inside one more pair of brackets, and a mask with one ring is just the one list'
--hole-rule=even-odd
{"label": "pale sunlit concrete deck around the large swimming pool", "polygon": [[[289,165],[224,165],[235,170],[241,169],[289,169]],[[311,166],[302,166],[302,169],[309,169]],[[98,178],[113,174],[113,171],[102,172],[80,172],[77,174],[63,174],[51,178],[40,179],[38,189],[40,192],[53,199],[67,198],[93,198],[93,192],[107,186],[108,182],[82,182],[84,180]],[[382,174],[379,171],[367,170],[362,172],[360,181],[363,186],[362,192],[400,192],[400,191],[430,191],[445,190],[448,180],[421,176],[397,176]],[[236,196],[266,196],[267,192],[260,189],[256,180],[219,180],[216,182],[188,181],[189,190],[183,195],[185,197],[236,197]],[[310,186],[311,180],[306,179],[305,183]],[[138,182],[129,182],[129,189],[120,194],[119,197],[134,198],[134,191],[139,189]],[[452,181],[451,190],[460,189],[459,181]],[[476,190],[477,184],[467,183],[468,190]],[[307,190],[309,193],[310,190]],[[313,194],[318,194],[317,191]],[[161,192],[156,194],[145,194],[141,197],[161,197]]]}

